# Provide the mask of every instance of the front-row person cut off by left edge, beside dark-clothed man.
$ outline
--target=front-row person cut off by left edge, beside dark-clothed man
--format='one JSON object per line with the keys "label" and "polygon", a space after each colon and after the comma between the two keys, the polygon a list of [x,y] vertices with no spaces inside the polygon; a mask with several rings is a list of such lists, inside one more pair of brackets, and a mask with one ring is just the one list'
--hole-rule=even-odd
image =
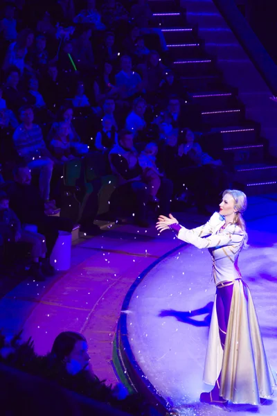
{"label": "front-row person cut off by left edge, beside dark-clothed man", "polygon": [[[31,246],[30,257],[31,266],[29,274],[37,281],[44,281],[44,275],[40,268],[40,259],[46,257],[45,237],[42,234],[25,231],[21,228],[21,223],[17,215],[9,208],[10,198],[4,191],[0,191],[0,246],[4,252],[8,246],[15,243],[29,243]],[[24,204],[21,201],[21,205]]]}

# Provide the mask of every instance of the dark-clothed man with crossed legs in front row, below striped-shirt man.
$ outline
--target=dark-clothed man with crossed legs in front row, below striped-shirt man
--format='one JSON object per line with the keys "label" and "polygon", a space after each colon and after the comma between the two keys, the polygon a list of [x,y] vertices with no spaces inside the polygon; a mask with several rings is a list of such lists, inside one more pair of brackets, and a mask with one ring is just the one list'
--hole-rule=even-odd
{"label": "dark-clothed man with crossed legs in front row, below striped-shirt man", "polygon": [[21,223],[37,225],[38,232],[45,236],[47,254],[42,270],[51,274],[53,268],[50,266],[49,258],[59,230],[71,232],[73,222],[68,218],[48,216],[47,214],[53,214],[53,212],[41,198],[37,187],[31,184],[31,180],[30,168],[26,164],[19,164],[14,170],[14,182],[7,184],[6,192],[10,197],[10,207],[15,211]]}

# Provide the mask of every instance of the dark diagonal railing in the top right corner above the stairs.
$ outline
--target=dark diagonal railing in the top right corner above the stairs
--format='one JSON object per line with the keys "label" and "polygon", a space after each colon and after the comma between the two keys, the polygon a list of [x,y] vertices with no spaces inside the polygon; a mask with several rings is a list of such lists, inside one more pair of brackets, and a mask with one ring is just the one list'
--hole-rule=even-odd
{"label": "dark diagonal railing in the top right corner above the stairs", "polygon": [[274,96],[277,96],[277,65],[272,60],[234,0],[213,0],[229,24],[245,53],[259,71]]}

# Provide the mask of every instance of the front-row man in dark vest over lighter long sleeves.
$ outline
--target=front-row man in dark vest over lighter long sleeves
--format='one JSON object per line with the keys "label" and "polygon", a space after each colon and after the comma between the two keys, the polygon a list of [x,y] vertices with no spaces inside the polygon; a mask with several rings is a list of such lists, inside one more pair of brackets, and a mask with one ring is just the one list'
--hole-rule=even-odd
{"label": "front-row man in dark vest over lighter long sleeves", "polygon": [[[148,227],[146,220],[146,205],[150,200],[150,190],[142,180],[143,170],[139,165],[139,154],[133,146],[131,131],[122,130],[118,137],[118,144],[109,153],[111,171],[118,177],[119,187],[116,189],[116,199],[124,196],[134,201],[134,220],[140,227]],[[159,189],[161,211],[170,210],[172,197],[172,182],[162,178]]]}

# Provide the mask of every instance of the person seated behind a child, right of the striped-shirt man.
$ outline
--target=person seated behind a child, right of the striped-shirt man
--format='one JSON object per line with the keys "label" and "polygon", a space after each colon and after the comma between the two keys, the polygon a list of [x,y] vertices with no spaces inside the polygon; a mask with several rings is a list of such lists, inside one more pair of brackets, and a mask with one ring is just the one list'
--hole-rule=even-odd
{"label": "person seated behind a child, right of the striped-shirt man", "polygon": [[56,136],[57,130],[60,128],[60,123],[66,123],[69,128],[69,141],[71,148],[74,149],[76,155],[82,155],[88,152],[87,145],[81,142],[80,136],[76,132],[73,124],[73,107],[71,105],[64,105],[60,108],[60,112],[57,115],[57,122],[53,123],[51,130],[47,136],[47,142],[51,143],[53,138]]}

